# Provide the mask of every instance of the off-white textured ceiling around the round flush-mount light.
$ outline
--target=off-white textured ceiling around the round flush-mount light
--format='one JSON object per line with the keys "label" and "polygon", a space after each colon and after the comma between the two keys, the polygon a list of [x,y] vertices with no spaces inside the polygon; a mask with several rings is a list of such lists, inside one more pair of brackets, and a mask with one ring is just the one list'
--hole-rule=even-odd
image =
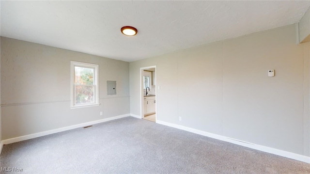
{"label": "off-white textured ceiling around the round flush-mount light", "polygon": [[[310,1],[3,1],[1,36],[134,61],[299,22]],[[125,36],[123,26],[138,29]]]}

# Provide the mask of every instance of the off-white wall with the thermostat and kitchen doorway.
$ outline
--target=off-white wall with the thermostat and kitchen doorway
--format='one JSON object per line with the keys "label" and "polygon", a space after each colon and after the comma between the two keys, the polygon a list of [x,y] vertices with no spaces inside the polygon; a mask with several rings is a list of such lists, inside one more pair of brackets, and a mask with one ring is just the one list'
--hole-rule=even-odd
{"label": "off-white wall with the thermostat and kitchen doorway", "polygon": [[295,29],[130,62],[131,114],[140,68],[157,65],[157,120],[310,156],[309,44],[296,44]]}

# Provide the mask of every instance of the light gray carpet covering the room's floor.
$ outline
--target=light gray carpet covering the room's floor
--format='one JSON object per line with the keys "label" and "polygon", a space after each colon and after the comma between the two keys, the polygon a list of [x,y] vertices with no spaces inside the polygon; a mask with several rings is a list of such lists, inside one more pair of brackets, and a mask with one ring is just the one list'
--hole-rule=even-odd
{"label": "light gray carpet covering the room's floor", "polygon": [[304,162],[134,117],[4,145],[0,162],[19,174],[310,173]]}

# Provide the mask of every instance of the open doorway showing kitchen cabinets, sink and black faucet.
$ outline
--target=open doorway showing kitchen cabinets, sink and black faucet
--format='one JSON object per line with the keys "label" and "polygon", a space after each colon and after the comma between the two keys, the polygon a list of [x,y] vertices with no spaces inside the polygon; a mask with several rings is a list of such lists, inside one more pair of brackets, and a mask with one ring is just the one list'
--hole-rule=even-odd
{"label": "open doorway showing kitchen cabinets, sink and black faucet", "polygon": [[156,66],[140,68],[140,116],[156,122]]}

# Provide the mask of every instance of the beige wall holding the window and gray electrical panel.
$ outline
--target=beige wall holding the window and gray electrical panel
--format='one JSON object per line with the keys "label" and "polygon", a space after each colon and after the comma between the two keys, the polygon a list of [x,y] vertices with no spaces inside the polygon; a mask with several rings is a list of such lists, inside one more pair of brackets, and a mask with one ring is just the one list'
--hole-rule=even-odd
{"label": "beige wall holding the window and gray electrical panel", "polygon": [[[99,65],[100,106],[70,109],[70,60]],[[2,140],[130,113],[128,62],[1,37],[0,65]]]}

